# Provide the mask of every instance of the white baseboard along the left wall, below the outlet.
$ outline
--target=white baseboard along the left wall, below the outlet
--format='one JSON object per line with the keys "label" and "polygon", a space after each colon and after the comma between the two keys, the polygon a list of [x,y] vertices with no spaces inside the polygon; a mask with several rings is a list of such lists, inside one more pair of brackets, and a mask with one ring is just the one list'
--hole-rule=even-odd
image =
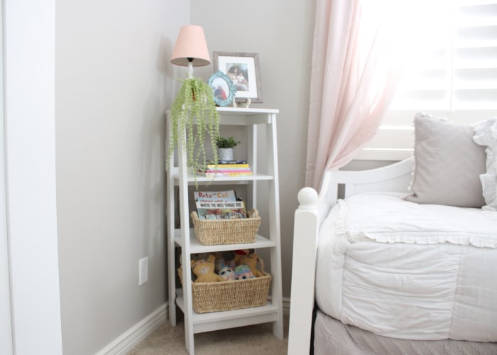
{"label": "white baseboard along the left wall, below the outlet", "polygon": [[155,329],[168,319],[168,304],[164,303],[150,315],[143,318],[120,337],[97,352],[96,355],[125,355],[139,342],[148,337]]}

